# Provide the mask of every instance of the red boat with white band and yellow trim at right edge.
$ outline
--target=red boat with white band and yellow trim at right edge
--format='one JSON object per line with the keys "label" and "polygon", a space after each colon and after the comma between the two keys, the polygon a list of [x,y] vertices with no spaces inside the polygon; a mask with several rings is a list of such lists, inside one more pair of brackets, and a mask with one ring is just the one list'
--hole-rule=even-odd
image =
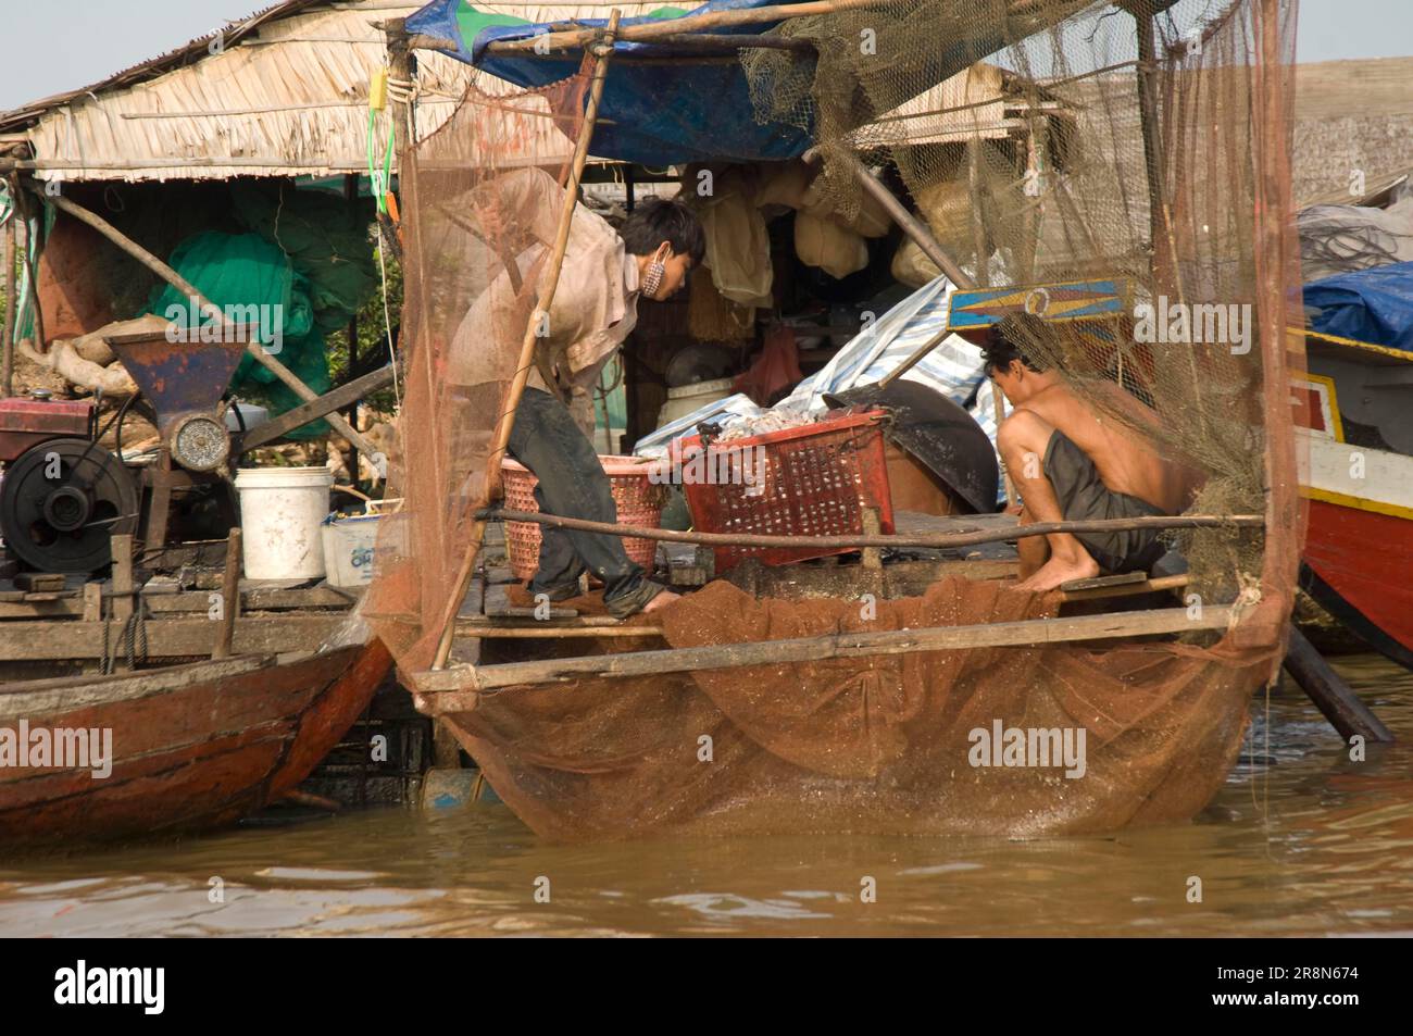
{"label": "red boat with white band and yellow trim at right edge", "polygon": [[1300,432],[1310,500],[1301,587],[1371,647],[1413,669],[1413,355],[1303,332]]}

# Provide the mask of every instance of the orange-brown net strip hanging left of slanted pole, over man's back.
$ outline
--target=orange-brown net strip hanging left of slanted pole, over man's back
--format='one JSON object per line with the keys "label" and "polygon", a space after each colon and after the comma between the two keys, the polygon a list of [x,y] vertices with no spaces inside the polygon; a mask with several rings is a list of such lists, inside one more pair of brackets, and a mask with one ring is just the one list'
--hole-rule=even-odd
{"label": "orange-brown net strip hanging left of slanted pole, over man's back", "polygon": [[473,82],[403,161],[404,382],[389,496],[406,503],[383,519],[365,611],[404,671],[432,661],[487,500],[486,462],[554,242],[586,83],[579,73],[492,93]]}

